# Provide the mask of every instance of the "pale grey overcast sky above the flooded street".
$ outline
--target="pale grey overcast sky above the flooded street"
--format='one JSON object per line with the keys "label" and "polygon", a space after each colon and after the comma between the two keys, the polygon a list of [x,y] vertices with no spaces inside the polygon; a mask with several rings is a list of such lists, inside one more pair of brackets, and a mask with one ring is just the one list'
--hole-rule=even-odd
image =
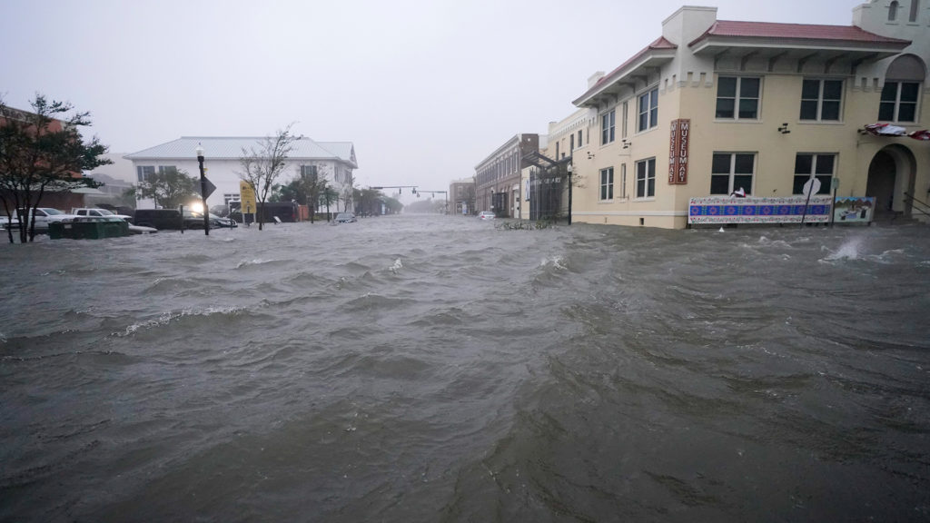
{"label": "pale grey overcast sky above the flooded street", "polygon": [[71,101],[113,153],[296,122],[352,141],[361,186],[442,191],[512,135],[571,114],[591,74],[684,3],[719,20],[849,25],[863,2],[0,0],[0,96]]}

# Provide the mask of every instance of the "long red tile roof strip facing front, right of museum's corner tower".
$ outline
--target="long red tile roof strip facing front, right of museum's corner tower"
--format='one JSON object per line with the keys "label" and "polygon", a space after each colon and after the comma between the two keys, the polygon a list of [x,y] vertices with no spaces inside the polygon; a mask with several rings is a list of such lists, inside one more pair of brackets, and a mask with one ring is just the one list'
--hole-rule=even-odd
{"label": "long red tile roof strip facing front, right of museum's corner tower", "polygon": [[805,40],[835,40],[867,44],[901,44],[907,40],[869,33],[855,25],[816,25],[807,23],[775,23],[767,21],[717,20],[711,29],[688,44],[694,46],[708,36],[743,36]]}

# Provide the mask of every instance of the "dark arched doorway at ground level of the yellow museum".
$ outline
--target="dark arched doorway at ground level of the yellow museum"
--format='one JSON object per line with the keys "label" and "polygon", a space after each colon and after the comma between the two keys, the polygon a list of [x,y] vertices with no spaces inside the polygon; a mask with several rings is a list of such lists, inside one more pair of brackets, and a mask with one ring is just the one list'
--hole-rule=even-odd
{"label": "dark arched doorway at ground level of the yellow museum", "polygon": [[903,145],[889,145],[872,156],[866,196],[875,198],[875,220],[910,216],[916,166],[914,154]]}

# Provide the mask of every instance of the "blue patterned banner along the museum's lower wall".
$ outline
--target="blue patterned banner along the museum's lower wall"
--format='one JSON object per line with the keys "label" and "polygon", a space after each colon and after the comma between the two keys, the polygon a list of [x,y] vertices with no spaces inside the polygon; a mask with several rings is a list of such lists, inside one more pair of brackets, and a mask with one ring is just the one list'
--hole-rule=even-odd
{"label": "blue patterned banner along the museum's lower wall", "polygon": [[710,196],[691,198],[689,224],[711,223],[825,223],[830,221],[832,196],[788,198],[735,198]]}

